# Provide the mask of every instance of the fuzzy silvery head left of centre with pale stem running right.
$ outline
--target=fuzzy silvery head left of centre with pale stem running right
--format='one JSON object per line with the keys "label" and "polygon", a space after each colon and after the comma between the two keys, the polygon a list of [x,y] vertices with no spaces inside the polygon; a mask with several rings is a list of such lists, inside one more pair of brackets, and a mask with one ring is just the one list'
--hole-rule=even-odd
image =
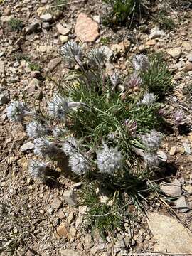
{"label": "fuzzy silvery head left of centre with pale stem running right", "polygon": [[55,95],[48,103],[48,112],[55,119],[63,119],[68,108],[68,102],[61,95]]}

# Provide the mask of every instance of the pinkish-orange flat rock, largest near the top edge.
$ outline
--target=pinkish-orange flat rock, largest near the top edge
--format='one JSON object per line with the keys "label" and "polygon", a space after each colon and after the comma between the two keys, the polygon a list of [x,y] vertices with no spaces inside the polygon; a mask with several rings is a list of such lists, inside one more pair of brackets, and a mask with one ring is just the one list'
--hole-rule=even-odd
{"label": "pinkish-orange flat rock, largest near the top edge", "polygon": [[75,34],[82,43],[93,42],[99,36],[99,26],[92,18],[80,13],[75,24]]}

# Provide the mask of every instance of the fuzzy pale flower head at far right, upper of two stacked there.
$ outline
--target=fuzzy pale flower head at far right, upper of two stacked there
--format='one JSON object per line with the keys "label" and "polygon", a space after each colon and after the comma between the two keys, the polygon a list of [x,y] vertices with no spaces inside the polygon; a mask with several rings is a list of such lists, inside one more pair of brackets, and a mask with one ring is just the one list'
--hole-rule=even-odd
{"label": "fuzzy pale flower head at far right, upper of two stacked there", "polygon": [[156,132],[156,130],[153,129],[151,132],[142,135],[141,138],[148,151],[156,151],[156,149],[159,149],[163,136],[160,132]]}

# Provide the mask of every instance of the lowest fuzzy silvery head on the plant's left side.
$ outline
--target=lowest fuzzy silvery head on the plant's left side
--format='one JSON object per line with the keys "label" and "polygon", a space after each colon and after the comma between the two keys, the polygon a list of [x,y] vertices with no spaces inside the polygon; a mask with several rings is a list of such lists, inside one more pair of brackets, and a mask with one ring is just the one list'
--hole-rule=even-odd
{"label": "lowest fuzzy silvery head on the plant's left side", "polygon": [[43,180],[46,178],[47,164],[38,160],[31,160],[28,166],[28,171],[33,178],[40,178]]}

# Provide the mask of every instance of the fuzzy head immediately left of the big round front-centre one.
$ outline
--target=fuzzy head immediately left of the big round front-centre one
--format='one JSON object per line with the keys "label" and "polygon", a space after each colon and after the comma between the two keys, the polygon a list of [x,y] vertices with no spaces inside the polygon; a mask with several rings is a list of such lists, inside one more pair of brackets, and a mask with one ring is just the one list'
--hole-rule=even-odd
{"label": "fuzzy head immediately left of the big round front-centre one", "polygon": [[69,165],[71,170],[78,175],[85,174],[90,169],[90,165],[87,162],[85,156],[79,153],[74,153],[70,155]]}

